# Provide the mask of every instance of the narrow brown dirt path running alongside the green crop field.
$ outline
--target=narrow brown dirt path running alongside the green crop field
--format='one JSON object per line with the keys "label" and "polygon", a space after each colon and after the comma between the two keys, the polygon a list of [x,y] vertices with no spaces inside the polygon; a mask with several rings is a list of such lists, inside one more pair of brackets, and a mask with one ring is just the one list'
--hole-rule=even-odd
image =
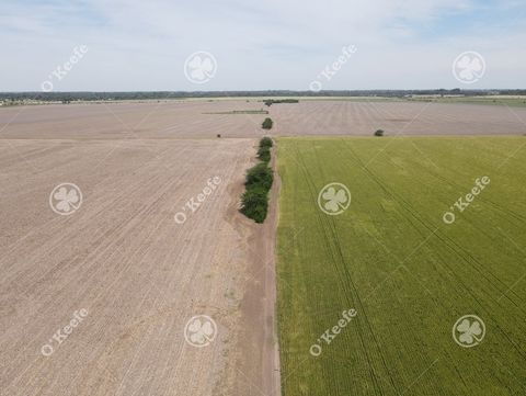
{"label": "narrow brown dirt path running alongside the green crop field", "polygon": [[[254,146],[254,152],[256,147]],[[241,304],[245,328],[240,337],[242,352],[237,377],[236,395],[281,395],[279,350],[276,317],[276,229],[281,181],[276,172],[276,152],[273,148],[274,183],[271,205],[264,224],[256,225],[243,218],[238,225],[249,233],[249,262],[247,292]]]}

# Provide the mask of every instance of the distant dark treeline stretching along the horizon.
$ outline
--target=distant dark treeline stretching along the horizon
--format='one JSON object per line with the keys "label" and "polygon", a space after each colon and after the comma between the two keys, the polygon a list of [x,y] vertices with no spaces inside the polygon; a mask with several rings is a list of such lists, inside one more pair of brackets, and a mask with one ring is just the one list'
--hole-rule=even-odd
{"label": "distant dark treeline stretching along the horizon", "polygon": [[521,90],[366,90],[366,91],[152,91],[152,92],[0,92],[1,101],[123,101],[123,100],[167,100],[190,98],[238,98],[238,97],[381,97],[407,98],[411,95],[526,95]]}

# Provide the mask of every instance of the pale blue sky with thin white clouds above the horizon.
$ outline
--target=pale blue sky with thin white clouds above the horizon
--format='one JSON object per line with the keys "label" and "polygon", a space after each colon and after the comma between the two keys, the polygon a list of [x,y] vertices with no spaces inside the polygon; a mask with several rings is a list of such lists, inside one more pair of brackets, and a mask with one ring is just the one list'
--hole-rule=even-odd
{"label": "pale blue sky with thin white clouds above the horizon", "polygon": [[526,88],[524,0],[0,0],[0,91]]}

